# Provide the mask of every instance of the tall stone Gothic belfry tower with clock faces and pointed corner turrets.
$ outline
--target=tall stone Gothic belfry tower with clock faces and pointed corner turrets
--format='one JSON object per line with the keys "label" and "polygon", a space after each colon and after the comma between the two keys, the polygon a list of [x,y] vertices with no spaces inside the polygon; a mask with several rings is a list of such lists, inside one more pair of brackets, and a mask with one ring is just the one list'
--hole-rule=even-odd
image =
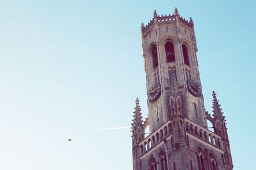
{"label": "tall stone Gothic belfry tower with clock faces and pointed corner turrets", "polygon": [[[204,108],[192,18],[157,15],[141,24],[148,117],[136,100],[132,122],[134,170],[232,169],[225,117],[215,92],[213,115]],[[209,131],[207,120],[214,132]],[[145,136],[149,126],[150,134]]]}

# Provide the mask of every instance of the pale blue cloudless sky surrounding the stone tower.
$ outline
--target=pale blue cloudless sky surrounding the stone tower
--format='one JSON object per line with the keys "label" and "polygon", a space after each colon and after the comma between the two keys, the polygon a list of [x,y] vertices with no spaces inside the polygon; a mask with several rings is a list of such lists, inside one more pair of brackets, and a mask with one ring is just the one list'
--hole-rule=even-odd
{"label": "pale blue cloudless sky surrounding the stone tower", "polygon": [[[131,170],[136,97],[147,116],[141,22],[195,22],[205,106],[215,90],[234,170],[255,168],[255,1],[0,1],[0,169]],[[71,138],[72,142],[67,139]]]}

